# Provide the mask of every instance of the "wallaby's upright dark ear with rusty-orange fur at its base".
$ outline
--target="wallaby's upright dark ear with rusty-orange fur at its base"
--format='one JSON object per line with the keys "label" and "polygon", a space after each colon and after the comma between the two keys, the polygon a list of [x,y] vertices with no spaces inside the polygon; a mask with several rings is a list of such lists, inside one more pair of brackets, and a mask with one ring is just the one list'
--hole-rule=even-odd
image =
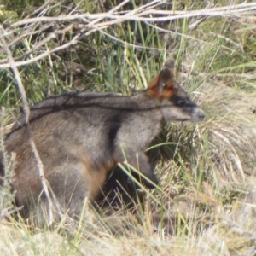
{"label": "wallaby's upright dark ear with rusty-orange fur at its base", "polygon": [[175,93],[175,82],[173,81],[174,61],[168,60],[148,86],[148,93],[157,98],[163,99]]}

